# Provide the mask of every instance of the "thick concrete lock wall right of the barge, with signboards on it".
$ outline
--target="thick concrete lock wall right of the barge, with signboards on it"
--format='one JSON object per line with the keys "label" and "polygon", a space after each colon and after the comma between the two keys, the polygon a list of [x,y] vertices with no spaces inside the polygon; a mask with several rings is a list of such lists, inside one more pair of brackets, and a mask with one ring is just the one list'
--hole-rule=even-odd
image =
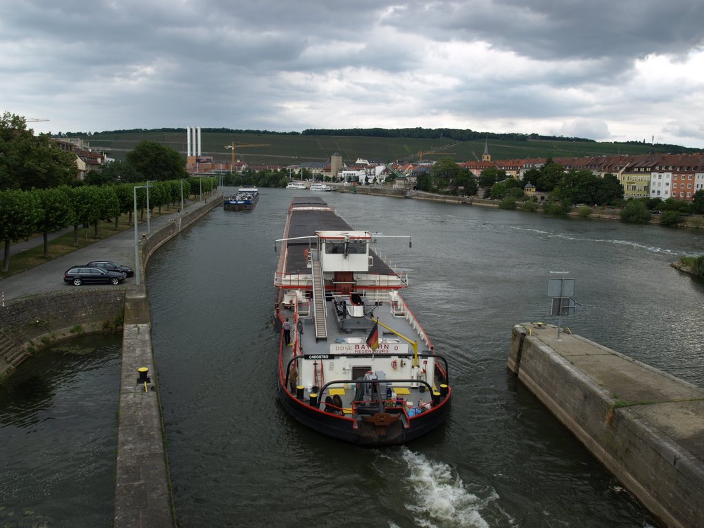
{"label": "thick concrete lock wall right of the barge, with signboards on it", "polygon": [[508,369],[664,526],[703,525],[704,390],[537,323]]}

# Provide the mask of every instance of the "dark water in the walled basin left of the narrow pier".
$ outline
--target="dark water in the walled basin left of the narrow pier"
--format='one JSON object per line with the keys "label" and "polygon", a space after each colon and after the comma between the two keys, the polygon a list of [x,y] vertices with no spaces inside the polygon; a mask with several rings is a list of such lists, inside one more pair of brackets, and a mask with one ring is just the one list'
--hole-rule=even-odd
{"label": "dark water in the walled basin left of the narrow pier", "polygon": [[0,527],[111,526],[121,348],[72,339],[0,386]]}

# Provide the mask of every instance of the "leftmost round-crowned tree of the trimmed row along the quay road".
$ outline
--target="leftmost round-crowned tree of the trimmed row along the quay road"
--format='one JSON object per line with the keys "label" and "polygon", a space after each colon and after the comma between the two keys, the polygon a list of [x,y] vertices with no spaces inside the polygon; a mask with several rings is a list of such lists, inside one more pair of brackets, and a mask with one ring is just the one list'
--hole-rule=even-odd
{"label": "leftmost round-crowned tree of the trimmed row along the quay road", "polygon": [[6,189],[0,191],[0,240],[5,243],[2,270],[10,269],[10,244],[30,237],[37,230],[42,205],[36,194]]}

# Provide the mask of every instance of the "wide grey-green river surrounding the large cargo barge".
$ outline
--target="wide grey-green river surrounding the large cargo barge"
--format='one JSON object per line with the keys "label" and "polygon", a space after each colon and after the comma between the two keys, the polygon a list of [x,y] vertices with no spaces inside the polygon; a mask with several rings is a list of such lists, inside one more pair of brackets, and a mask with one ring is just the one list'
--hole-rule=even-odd
{"label": "wide grey-green river surrounding the large cargo barge", "polygon": [[[655,525],[505,363],[514,324],[557,322],[548,278],[567,271],[582,310],[563,326],[704,386],[704,283],[670,267],[704,254],[703,233],[325,193],[353,227],[412,235],[412,249],[379,239],[375,251],[409,271],[403,295],[450,361],[448,423],[364,449],[298,425],[275,398],[273,249],[294,192],[262,189],[251,213],[213,210],[149,261],[180,526]],[[103,409],[113,423],[116,402],[117,382]]]}

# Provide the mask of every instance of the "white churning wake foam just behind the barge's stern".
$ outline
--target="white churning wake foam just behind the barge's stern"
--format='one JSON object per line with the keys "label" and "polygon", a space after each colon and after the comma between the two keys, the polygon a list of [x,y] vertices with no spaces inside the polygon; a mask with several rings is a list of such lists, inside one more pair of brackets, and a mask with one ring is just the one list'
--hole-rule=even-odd
{"label": "white churning wake foam just behind the barge's stern", "polygon": [[489,528],[480,513],[498,498],[496,491],[479,498],[470,493],[451,467],[402,448],[401,460],[408,467],[406,508],[418,526],[427,528]]}

